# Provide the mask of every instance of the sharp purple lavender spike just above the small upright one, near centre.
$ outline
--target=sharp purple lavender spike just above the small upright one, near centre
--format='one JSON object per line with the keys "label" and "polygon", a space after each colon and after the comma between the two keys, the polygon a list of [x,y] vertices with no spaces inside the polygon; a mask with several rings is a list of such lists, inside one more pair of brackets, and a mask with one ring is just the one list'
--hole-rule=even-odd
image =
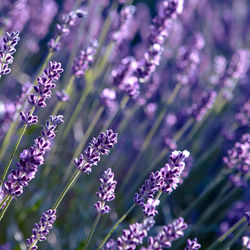
{"label": "sharp purple lavender spike just above the small upright one, near centre", "polygon": [[79,158],[75,158],[74,162],[77,168],[83,173],[91,173],[92,166],[97,165],[101,155],[108,155],[111,148],[117,143],[117,133],[112,129],[101,132],[97,138],[93,138],[90,145],[81,154]]}

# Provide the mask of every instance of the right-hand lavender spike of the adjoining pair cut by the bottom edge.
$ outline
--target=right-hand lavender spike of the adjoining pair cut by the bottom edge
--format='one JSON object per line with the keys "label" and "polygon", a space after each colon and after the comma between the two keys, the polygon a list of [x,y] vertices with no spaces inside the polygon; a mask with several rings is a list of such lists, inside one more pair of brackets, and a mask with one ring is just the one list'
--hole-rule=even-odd
{"label": "right-hand lavender spike of the adjoining pair cut by the bottom edge", "polygon": [[172,224],[164,226],[162,230],[155,236],[148,239],[148,247],[145,250],[163,249],[172,246],[172,242],[184,235],[183,230],[187,228],[187,224],[182,217],[173,221]]}

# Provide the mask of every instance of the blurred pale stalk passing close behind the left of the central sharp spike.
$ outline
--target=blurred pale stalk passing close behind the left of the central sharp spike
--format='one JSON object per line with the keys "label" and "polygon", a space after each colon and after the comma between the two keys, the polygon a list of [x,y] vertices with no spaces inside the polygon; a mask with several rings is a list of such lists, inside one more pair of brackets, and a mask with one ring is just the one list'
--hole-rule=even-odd
{"label": "blurred pale stalk passing close behind the left of the central sharp spike", "polygon": [[99,110],[97,111],[96,115],[94,116],[92,122],[90,123],[85,135],[83,135],[83,137],[81,139],[81,142],[78,145],[73,157],[71,158],[70,164],[69,164],[68,168],[65,171],[65,174],[64,174],[64,177],[63,177],[64,181],[68,178],[68,176],[69,176],[69,174],[70,174],[70,172],[71,172],[71,170],[72,170],[72,168],[74,166],[74,159],[81,153],[84,146],[86,145],[86,142],[89,139],[89,136],[90,136],[91,132],[93,131],[96,123],[98,122],[99,118],[101,117],[101,115],[103,113],[103,110],[104,110],[104,108],[103,108],[103,106],[101,106],[99,108]]}

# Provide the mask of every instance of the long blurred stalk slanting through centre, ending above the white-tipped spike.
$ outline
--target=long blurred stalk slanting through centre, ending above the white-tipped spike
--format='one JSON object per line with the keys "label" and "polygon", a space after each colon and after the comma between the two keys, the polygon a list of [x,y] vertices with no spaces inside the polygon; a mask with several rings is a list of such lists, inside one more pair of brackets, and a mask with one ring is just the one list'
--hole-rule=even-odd
{"label": "long blurred stalk slanting through centre, ending above the white-tipped spike", "polygon": [[176,98],[179,90],[181,88],[181,85],[178,83],[176,84],[172,94],[170,95],[170,97],[168,98],[167,102],[166,102],[166,105],[163,107],[163,109],[161,110],[160,114],[158,115],[157,117],[157,120],[155,121],[153,127],[151,128],[151,130],[149,131],[149,133],[147,134],[147,137],[142,145],[142,148],[139,152],[139,154],[137,155],[135,161],[133,162],[132,166],[129,168],[129,171],[127,172],[123,182],[122,182],[122,186],[121,186],[121,192],[124,190],[124,188],[126,187],[128,181],[130,180],[131,178],[131,175],[134,173],[136,167],[138,166],[138,163],[140,162],[141,160],[141,157],[145,151],[145,149],[148,147],[148,145],[150,144],[153,136],[155,135],[155,132],[158,130],[165,114],[166,114],[166,111],[168,109],[168,107],[172,104],[172,102],[174,101],[174,99]]}

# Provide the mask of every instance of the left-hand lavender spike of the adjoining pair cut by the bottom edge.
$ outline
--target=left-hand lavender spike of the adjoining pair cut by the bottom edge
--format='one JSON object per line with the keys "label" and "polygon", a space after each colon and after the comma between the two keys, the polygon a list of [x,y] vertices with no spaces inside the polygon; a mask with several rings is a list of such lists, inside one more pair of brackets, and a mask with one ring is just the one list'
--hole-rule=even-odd
{"label": "left-hand lavender spike of the adjoining pair cut by the bottom edge", "polygon": [[136,246],[143,243],[143,239],[147,237],[148,231],[154,224],[155,221],[151,217],[144,219],[142,223],[134,223],[129,226],[129,229],[124,229],[122,236],[118,237],[116,241],[109,240],[103,249],[136,249]]}

